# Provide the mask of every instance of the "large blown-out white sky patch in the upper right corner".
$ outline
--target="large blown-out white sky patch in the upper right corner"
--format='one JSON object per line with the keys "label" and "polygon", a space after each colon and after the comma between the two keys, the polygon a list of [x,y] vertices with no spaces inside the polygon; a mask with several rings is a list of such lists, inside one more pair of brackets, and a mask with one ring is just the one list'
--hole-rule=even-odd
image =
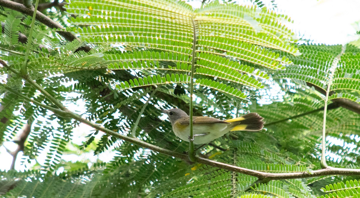
{"label": "large blown-out white sky patch in the upper right corner", "polygon": [[[239,4],[251,5],[248,0]],[[269,5],[270,0],[263,0]],[[275,0],[275,12],[288,15],[294,23],[285,25],[304,39],[328,45],[346,44],[359,39],[359,0]],[[201,1],[189,2],[194,8],[201,7]],[[271,6],[269,6],[271,8]]]}

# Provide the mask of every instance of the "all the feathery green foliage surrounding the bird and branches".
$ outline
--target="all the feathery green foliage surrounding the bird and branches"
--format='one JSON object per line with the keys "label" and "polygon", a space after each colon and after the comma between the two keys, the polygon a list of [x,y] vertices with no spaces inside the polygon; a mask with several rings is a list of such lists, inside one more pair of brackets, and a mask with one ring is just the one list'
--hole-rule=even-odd
{"label": "all the feathery green foliage surrounding the bird and branches", "polygon": [[[262,131],[232,132],[197,155],[272,174],[318,170],[324,95],[330,85],[330,105],[335,107],[337,99],[359,105],[360,50],[352,45],[297,45],[296,35],[283,25],[291,19],[261,1],[252,2],[254,6],[213,1],[193,9],[174,0],[71,1],[66,6],[69,15],[44,12],[79,40],[63,40],[59,30],[37,22],[28,60],[19,32],[29,35],[31,17],[1,7],[0,59],[17,71],[28,61],[29,77],[82,118],[179,153],[186,153],[189,145],[174,135],[160,109],[187,111],[193,83],[195,116],[226,119],[257,112],[266,122]],[[85,45],[91,49],[79,50]],[[78,121],[9,92],[11,88],[57,108],[4,66],[0,81],[0,144],[16,140],[26,123],[32,123],[21,159],[29,171],[2,171],[1,196],[359,195],[355,176],[256,183],[255,176],[182,161],[98,130],[87,131]],[[327,111],[330,166],[359,168],[359,114],[351,110]],[[101,157],[104,153],[109,159]],[[74,154],[80,157],[69,161]],[[93,155],[99,157],[84,157]],[[38,163],[31,165],[34,160]]]}

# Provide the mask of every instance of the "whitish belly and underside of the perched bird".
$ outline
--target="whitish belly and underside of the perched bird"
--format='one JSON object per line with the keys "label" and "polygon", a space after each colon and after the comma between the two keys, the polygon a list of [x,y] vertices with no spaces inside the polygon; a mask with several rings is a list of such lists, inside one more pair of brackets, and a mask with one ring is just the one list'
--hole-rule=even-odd
{"label": "whitish belly and underside of the perched bird", "polygon": [[[202,125],[202,127],[199,127],[199,125]],[[229,124],[226,123],[216,123],[216,124],[207,124],[207,127],[203,126],[204,124],[194,124],[193,125],[193,134],[207,134],[207,135],[201,135],[201,136],[195,136],[194,137],[194,144],[207,144],[211,142],[212,140],[215,140],[217,138],[220,138],[221,136],[225,135],[230,131],[228,128]],[[216,125],[216,126],[215,126]],[[200,129],[201,128],[201,129]],[[177,137],[184,141],[189,141],[189,135],[190,135],[190,126],[186,126],[183,130],[177,131],[174,130],[174,133]]]}

